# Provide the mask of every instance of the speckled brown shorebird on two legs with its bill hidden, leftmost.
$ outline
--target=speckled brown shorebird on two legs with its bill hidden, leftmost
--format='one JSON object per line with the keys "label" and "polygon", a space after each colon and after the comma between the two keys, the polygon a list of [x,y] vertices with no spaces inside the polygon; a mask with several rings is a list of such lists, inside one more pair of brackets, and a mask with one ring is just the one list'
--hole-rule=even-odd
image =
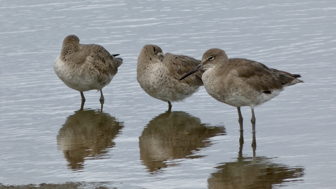
{"label": "speckled brown shorebird on two legs with its bill hidden, leftmost", "polygon": [[67,36],[54,61],[54,71],[68,87],[81,93],[82,107],[85,97],[83,91],[100,90],[100,103],[104,103],[101,89],[108,85],[117,74],[123,59],[115,58],[104,47],[97,44],[79,44],[75,35]]}

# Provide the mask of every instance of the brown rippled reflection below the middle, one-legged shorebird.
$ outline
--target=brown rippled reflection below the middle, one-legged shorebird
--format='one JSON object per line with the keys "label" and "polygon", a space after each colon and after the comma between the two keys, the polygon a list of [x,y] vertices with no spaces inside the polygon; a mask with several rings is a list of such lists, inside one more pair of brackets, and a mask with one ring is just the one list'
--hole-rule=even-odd
{"label": "brown rippled reflection below the middle, one-legged shorebird", "polygon": [[167,111],[154,117],[139,137],[140,160],[152,174],[177,166],[182,158],[199,158],[195,152],[212,145],[209,140],[225,135],[224,126],[209,126],[186,112]]}

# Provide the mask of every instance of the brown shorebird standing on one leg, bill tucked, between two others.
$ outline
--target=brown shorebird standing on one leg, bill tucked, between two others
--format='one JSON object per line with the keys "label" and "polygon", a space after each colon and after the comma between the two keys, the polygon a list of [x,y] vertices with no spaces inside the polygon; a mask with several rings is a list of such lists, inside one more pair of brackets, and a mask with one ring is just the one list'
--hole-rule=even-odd
{"label": "brown shorebird standing on one leg, bill tucked, between two others", "polygon": [[192,96],[203,85],[202,70],[182,82],[178,80],[200,64],[189,56],[163,54],[160,47],[149,44],[143,46],[138,56],[136,79],[148,95],[167,102],[170,111],[171,102]]}

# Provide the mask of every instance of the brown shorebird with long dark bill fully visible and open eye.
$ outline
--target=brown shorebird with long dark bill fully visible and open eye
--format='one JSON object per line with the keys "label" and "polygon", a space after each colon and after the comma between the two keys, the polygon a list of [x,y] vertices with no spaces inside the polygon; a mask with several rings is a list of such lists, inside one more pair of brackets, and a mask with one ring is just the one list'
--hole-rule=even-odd
{"label": "brown shorebird with long dark bill fully visible and open eye", "polygon": [[212,48],[202,56],[202,63],[183,78],[200,69],[205,90],[219,102],[237,107],[240,131],[243,131],[241,106],[250,106],[252,133],[255,133],[254,107],[278,96],[286,86],[303,83],[299,74],[268,68],[248,59],[228,59],[224,50]]}

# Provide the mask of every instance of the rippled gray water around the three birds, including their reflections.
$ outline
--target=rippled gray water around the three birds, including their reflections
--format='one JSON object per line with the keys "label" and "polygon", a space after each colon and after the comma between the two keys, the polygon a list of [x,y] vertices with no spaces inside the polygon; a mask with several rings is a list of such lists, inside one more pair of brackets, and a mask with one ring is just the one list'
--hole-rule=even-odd
{"label": "rippled gray water around the three birds, including their reflections", "polygon": [[[336,1],[0,1],[0,183],[93,182],[117,188],[334,188]],[[75,34],[124,64],[99,92],[53,71]],[[305,83],[255,109],[201,87],[167,103],[136,81],[143,45],[201,59],[209,48],[301,74]]]}

